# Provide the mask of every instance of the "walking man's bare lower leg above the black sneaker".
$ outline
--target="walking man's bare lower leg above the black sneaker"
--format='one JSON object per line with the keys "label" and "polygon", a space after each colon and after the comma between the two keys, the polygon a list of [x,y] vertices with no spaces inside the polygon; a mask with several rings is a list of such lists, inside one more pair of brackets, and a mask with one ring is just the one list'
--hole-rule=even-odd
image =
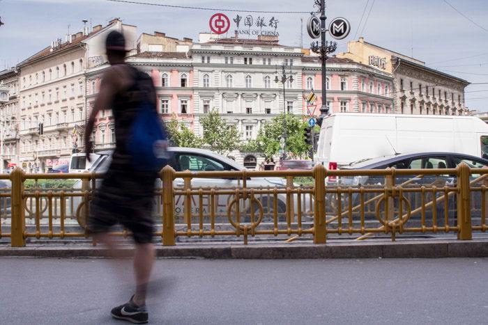
{"label": "walking man's bare lower leg above the black sneaker", "polygon": [[136,244],[134,254],[134,274],[136,291],[132,299],[137,306],[146,306],[146,293],[154,262],[154,246],[148,244]]}

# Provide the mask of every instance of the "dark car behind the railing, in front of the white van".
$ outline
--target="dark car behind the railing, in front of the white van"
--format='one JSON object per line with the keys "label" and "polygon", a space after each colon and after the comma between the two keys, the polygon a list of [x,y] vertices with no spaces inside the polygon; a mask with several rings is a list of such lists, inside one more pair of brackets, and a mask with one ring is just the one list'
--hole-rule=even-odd
{"label": "dark car behind the railing, in front of the white van", "polygon": [[[482,159],[480,157],[471,156],[469,154],[459,154],[455,152],[421,152],[421,153],[414,153],[414,154],[397,154],[397,155],[390,155],[390,156],[383,156],[383,157],[376,157],[372,159],[363,159],[361,161],[353,162],[349,164],[349,166],[342,166],[341,169],[344,170],[370,170],[370,169],[385,169],[385,168],[397,168],[397,169],[432,169],[432,168],[456,168],[457,165],[461,164],[462,162],[468,164],[471,168],[483,168],[488,167],[488,159]],[[437,189],[442,189],[445,186],[448,187],[455,187],[457,183],[456,175],[423,175],[422,177],[418,177],[420,175],[396,175],[395,176],[395,185],[404,184],[405,182],[409,182],[402,186],[404,189],[409,188],[420,188],[425,187],[425,189],[432,189],[434,186]],[[480,175],[471,175],[471,180],[478,178]],[[328,183],[328,185],[333,185],[333,187],[351,187],[351,188],[358,188],[364,187],[369,189],[379,189],[376,193],[369,193],[368,196],[365,195],[365,201],[367,198],[377,196],[381,192],[381,189],[385,187],[385,177],[384,176],[345,176],[340,177],[337,180],[337,183]],[[437,191],[436,197],[440,198],[443,196],[443,191]],[[405,192],[404,196],[409,200],[411,204],[411,210],[416,209],[421,206],[422,197],[419,191],[416,192]],[[473,212],[476,212],[480,209],[480,198],[476,198],[476,196],[480,196],[480,193],[473,193],[471,199],[471,205]],[[353,193],[351,196],[352,198],[352,206],[356,206],[360,204],[360,195],[359,193]],[[425,194],[425,203],[433,202],[434,196],[432,192],[427,192]],[[451,215],[455,214],[455,210],[457,207],[456,202],[456,194],[451,195],[447,198],[448,200],[448,209],[450,210]],[[329,195],[329,202],[334,207],[334,210],[337,210],[337,195],[335,193],[331,193]],[[342,194],[341,196],[341,203],[342,203],[342,211],[347,209],[349,206],[349,196],[347,194]],[[372,203],[372,205],[376,205],[376,202]],[[395,203],[395,207],[398,206],[398,203]],[[367,207],[374,211],[374,207]],[[432,215],[433,207],[429,207],[426,209],[426,213]],[[445,203],[444,200],[441,200],[438,204],[436,204],[436,211],[438,216],[443,216],[445,212]],[[439,217],[439,223],[442,223],[441,220],[443,218]]]}

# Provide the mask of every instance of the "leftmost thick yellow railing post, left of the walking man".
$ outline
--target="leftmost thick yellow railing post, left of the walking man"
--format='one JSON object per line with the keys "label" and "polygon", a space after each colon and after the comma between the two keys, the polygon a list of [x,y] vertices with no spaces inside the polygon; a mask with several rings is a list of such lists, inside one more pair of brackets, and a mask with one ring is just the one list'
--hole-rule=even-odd
{"label": "leftmost thick yellow railing post, left of the walking man", "polygon": [[21,168],[15,168],[10,173],[10,181],[12,182],[12,198],[10,200],[11,222],[11,246],[24,247],[25,246],[25,215],[24,215],[24,171]]}

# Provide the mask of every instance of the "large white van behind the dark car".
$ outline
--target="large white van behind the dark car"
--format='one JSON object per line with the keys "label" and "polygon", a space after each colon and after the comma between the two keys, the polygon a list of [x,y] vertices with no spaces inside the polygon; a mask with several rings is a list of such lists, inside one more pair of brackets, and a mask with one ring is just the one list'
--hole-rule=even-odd
{"label": "large white van behind the dark car", "polygon": [[333,113],[323,118],[315,160],[337,169],[387,154],[432,151],[488,157],[488,125],[475,116]]}

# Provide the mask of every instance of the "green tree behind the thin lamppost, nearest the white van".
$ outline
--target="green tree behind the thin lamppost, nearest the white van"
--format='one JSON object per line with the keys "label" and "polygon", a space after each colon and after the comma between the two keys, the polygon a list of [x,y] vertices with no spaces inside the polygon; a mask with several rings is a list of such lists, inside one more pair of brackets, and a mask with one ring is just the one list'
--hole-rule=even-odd
{"label": "green tree behind the thin lamppost, nearest the white van", "polygon": [[[250,151],[263,152],[266,159],[270,160],[281,149],[280,139],[283,136],[284,114],[273,118],[270,122],[261,126],[257,138],[251,141],[246,149]],[[310,145],[305,143],[304,129],[307,123],[300,117],[293,114],[286,115],[287,127],[287,152],[296,156],[303,156],[310,150]]]}

